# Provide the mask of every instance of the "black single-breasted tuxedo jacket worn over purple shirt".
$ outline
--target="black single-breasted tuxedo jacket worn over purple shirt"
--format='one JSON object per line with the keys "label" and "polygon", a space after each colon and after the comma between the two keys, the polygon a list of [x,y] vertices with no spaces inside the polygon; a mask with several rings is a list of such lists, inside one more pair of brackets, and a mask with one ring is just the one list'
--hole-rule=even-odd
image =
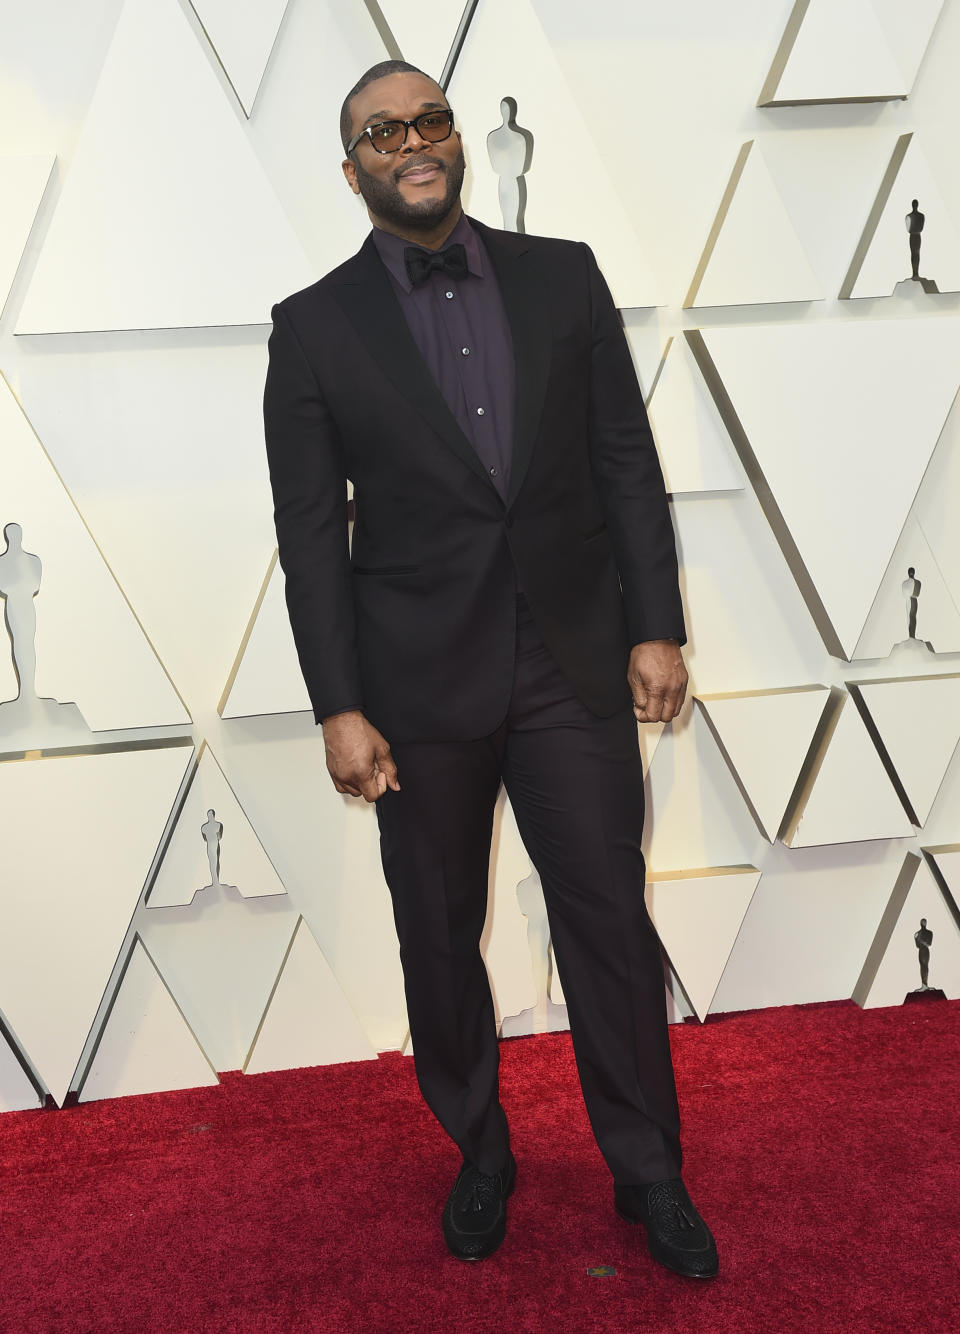
{"label": "black single-breasted tuxedo jacket worn over purple shirt", "polygon": [[273,308],[264,419],[300,666],[317,720],[361,707],[389,742],[467,740],[500,724],[517,584],[597,715],[629,703],[631,644],[684,642],[663,475],[592,252],[473,225],[516,358],[505,503],[372,239]]}

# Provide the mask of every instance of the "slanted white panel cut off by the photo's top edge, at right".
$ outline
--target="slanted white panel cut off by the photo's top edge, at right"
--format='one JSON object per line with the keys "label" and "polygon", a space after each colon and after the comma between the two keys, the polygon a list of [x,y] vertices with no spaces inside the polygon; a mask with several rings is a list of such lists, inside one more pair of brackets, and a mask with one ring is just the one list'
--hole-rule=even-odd
{"label": "slanted white panel cut off by the photo's top edge, at right", "polygon": [[796,0],[759,105],[905,97],[943,0]]}

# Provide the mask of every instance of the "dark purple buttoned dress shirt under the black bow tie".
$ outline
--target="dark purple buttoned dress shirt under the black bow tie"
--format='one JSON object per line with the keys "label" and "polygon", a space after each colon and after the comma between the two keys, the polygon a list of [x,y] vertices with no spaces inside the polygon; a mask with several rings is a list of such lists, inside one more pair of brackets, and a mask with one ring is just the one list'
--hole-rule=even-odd
{"label": "dark purple buttoned dress shirt under the black bow tie", "polygon": [[513,450],[513,340],[489,255],[465,215],[440,249],[457,241],[467,251],[467,276],[431,273],[413,287],[404,265],[411,243],[373,228],[373,244],[413,342],[505,500]]}

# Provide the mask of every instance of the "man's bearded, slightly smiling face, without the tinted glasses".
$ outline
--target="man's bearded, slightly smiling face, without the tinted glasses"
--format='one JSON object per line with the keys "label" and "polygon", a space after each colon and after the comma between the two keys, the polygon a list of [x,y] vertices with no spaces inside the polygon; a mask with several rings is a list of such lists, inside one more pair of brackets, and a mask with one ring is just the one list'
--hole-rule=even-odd
{"label": "man's bearded, slightly smiling face, without the tinted glasses", "polygon": [[[379,120],[413,120],[447,107],[439,84],[425,75],[387,75],[368,84],[351,104],[353,133]],[[439,144],[421,139],[411,125],[399,152],[379,153],[367,135],[343,164],[355,195],[361,195],[377,223],[399,231],[431,231],[460,197],[464,176],[457,131]]]}

